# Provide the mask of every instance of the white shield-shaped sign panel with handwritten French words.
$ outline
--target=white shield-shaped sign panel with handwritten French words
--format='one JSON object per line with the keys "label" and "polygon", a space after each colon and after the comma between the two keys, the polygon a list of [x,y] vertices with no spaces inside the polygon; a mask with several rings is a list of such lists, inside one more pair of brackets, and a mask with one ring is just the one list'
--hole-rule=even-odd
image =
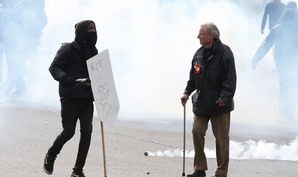
{"label": "white shield-shaped sign panel with handwritten French words", "polygon": [[119,113],[119,100],[109,50],[88,59],[87,67],[98,117],[101,122],[113,127]]}

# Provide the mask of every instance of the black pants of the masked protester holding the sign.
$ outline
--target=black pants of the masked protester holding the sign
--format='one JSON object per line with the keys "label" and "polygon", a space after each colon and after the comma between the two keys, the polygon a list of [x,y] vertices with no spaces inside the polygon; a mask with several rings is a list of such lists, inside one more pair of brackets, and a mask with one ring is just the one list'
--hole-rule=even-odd
{"label": "black pants of the masked protester holding the sign", "polygon": [[76,158],[75,169],[83,169],[90,146],[93,118],[93,99],[64,98],[61,99],[61,117],[63,131],[57,136],[48,154],[56,158],[63,145],[70,140],[76,131],[76,122],[80,120],[81,138]]}

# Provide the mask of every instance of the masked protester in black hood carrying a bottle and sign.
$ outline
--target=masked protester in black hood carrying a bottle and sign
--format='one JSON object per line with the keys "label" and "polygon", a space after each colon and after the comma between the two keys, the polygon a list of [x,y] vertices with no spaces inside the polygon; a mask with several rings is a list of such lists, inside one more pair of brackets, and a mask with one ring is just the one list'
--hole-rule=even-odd
{"label": "masked protester in black hood carrying a bottle and sign", "polygon": [[71,177],[84,177],[82,171],[91,140],[94,98],[90,86],[75,85],[75,80],[89,78],[86,60],[98,54],[95,47],[97,33],[91,20],[78,22],[75,29],[75,40],[62,44],[49,68],[53,78],[59,81],[63,131],[48,149],[43,169],[47,174],[53,173],[54,160],[75,134],[79,119],[81,138]]}

